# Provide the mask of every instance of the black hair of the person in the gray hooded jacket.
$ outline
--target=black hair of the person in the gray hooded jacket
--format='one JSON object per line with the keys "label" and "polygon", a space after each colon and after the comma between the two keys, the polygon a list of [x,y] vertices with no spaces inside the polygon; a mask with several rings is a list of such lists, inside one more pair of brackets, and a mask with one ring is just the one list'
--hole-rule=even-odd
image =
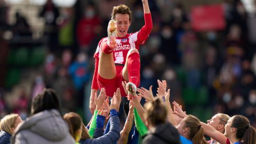
{"label": "black hair of the person in the gray hooded jacket", "polygon": [[61,114],[59,99],[53,89],[44,89],[43,93],[37,94],[32,101],[31,114],[37,114],[44,110],[57,109]]}

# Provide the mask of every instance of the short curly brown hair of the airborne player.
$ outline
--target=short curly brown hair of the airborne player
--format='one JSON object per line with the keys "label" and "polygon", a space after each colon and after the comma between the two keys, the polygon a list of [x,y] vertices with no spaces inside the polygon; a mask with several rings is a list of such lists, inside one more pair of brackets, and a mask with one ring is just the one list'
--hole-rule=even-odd
{"label": "short curly brown hair of the airborne player", "polygon": [[113,10],[112,10],[112,13],[111,13],[111,19],[115,20],[116,18],[116,14],[128,14],[129,15],[129,21],[131,22],[132,20],[132,11],[129,9],[128,6],[124,5],[124,4],[121,4],[121,5],[118,5],[118,6],[114,6],[113,7]]}

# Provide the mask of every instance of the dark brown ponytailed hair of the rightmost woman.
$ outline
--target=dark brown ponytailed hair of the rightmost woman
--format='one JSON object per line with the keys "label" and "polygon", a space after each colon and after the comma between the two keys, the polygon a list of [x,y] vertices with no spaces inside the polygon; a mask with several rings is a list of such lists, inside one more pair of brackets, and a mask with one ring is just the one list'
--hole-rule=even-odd
{"label": "dark brown ponytailed hair of the rightmost woman", "polygon": [[242,140],[243,143],[255,143],[256,131],[250,125],[249,119],[242,115],[235,115],[230,126],[237,129],[236,138]]}

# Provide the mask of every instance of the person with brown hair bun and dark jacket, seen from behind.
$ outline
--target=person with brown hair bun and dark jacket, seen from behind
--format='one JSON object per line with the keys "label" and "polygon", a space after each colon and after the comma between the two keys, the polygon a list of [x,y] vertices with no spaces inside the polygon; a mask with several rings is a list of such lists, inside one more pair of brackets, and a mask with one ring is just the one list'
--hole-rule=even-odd
{"label": "person with brown hair bun and dark jacket, seen from behind", "polygon": [[142,143],[180,143],[178,131],[172,124],[166,122],[167,110],[161,99],[147,102],[145,110],[149,131]]}

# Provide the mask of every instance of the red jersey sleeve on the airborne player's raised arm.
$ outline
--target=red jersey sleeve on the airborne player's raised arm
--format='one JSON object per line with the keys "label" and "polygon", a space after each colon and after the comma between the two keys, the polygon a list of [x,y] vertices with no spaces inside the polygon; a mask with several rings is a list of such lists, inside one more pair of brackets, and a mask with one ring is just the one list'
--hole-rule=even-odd
{"label": "red jersey sleeve on the airborne player's raised arm", "polygon": [[137,35],[137,44],[145,44],[153,28],[151,13],[144,13],[145,25],[140,29]]}

